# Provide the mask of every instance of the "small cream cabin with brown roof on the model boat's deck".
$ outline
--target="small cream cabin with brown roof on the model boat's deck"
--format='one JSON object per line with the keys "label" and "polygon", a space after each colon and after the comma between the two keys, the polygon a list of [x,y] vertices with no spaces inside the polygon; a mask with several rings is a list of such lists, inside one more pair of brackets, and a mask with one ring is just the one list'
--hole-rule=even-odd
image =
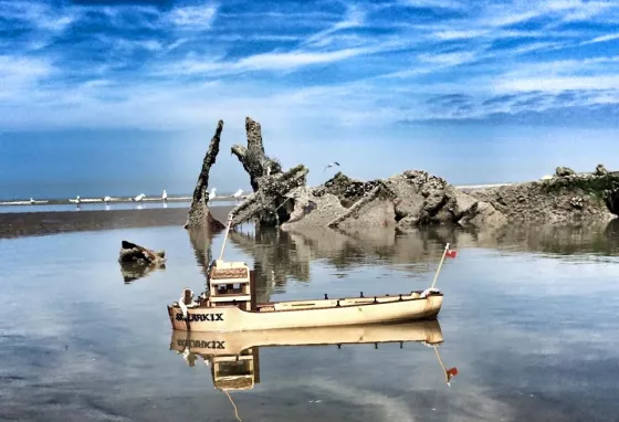
{"label": "small cream cabin with brown roof on the model boat's deck", "polygon": [[255,279],[244,262],[213,262],[209,273],[209,306],[239,306],[255,310]]}

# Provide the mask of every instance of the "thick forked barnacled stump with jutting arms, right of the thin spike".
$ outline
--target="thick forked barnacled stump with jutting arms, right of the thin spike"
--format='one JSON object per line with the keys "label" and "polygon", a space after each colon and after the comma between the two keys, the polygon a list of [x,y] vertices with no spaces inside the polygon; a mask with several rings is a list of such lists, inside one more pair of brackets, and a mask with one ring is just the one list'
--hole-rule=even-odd
{"label": "thick forked barnacled stump with jutting arms, right of the thin spike", "polygon": [[260,225],[280,225],[292,211],[286,207],[288,193],[305,186],[310,170],[296,166],[283,171],[281,163],[264,152],[260,124],[250,117],[245,118],[245,131],[248,146],[234,145],[231,151],[248,172],[253,193],[232,211],[232,226],[252,220]]}

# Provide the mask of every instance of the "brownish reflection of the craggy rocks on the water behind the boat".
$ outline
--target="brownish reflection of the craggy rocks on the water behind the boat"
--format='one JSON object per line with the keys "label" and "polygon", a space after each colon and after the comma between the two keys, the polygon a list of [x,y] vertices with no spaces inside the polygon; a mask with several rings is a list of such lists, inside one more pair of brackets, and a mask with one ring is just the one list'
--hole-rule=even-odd
{"label": "brownish reflection of the craggy rocks on the water behind the boat", "polygon": [[[619,221],[580,226],[503,225],[493,230],[439,225],[401,233],[395,228],[374,230],[334,230],[312,228],[280,231],[262,229],[254,240],[249,234],[231,233],[231,240],[254,256],[259,286],[272,292],[270,272],[277,274],[277,285],[287,276],[310,279],[310,262],[321,260],[338,270],[359,265],[395,265],[407,272],[426,272],[433,267],[443,247],[508,249],[510,252],[549,254],[604,253],[619,250]],[[266,287],[265,287],[266,286]]]}

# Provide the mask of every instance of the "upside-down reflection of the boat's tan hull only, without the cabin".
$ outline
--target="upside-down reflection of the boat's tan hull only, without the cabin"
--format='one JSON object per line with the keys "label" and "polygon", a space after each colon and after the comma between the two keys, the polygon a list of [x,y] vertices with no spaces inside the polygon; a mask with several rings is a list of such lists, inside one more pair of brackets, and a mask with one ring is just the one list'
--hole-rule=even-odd
{"label": "upside-down reflection of the boat's tan hull only, without the cabin", "polygon": [[358,345],[400,341],[443,341],[438,320],[366,326],[288,328],[260,331],[200,333],[174,330],[170,349],[197,355],[241,355],[252,347]]}

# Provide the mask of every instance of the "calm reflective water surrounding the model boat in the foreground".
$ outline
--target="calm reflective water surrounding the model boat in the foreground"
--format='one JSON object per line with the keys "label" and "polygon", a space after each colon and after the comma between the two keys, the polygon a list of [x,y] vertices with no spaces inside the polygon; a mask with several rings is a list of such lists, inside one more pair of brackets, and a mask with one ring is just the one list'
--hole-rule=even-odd
{"label": "calm reflective water surrounding the model boat in the foreground", "polygon": [[[452,243],[439,351],[459,374],[447,386],[420,342],[261,348],[260,382],[231,392],[243,421],[618,420],[617,228],[244,230],[227,257],[255,266],[263,299],[424,288]],[[123,239],[167,267],[125,283]],[[210,368],[170,350],[166,304],[203,288],[208,245],[178,228],[1,240],[0,419],[235,421]]]}

